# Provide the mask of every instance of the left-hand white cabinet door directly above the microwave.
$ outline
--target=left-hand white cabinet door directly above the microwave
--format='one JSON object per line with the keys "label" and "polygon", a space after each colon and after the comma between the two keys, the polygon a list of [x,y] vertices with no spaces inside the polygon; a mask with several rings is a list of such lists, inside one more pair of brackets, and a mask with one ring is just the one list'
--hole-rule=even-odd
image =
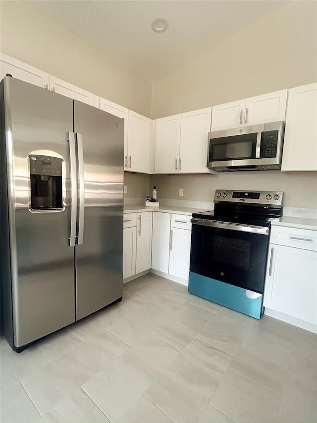
{"label": "left-hand white cabinet door directly above the microwave", "polygon": [[244,125],[246,100],[212,106],[211,130],[238,128]]}

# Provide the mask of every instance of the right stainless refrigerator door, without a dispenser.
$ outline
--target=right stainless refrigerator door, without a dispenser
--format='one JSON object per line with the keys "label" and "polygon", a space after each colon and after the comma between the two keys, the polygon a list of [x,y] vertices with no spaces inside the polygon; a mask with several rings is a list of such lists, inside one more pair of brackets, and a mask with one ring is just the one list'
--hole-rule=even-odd
{"label": "right stainless refrigerator door, without a dispenser", "polygon": [[[122,297],[124,121],[75,100],[74,130],[79,141],[78,320]],[[80,181],[81,145],[83,183]],[[81,190],[84,190],[84,199]],[[84,207],[84,213],[80,207]],[[79,218],[83,220],[83,231]]]}

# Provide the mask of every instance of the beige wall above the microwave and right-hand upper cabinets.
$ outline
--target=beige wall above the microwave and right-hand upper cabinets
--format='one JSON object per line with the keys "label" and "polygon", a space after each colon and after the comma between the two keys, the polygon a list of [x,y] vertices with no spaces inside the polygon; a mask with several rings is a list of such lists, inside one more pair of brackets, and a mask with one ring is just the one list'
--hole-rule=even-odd
{"label": "beige wall above the microwave and right-hand upper cabinets", "polygon": [[152,118],[316,81],[317,1],[285,2],[154,83]]}

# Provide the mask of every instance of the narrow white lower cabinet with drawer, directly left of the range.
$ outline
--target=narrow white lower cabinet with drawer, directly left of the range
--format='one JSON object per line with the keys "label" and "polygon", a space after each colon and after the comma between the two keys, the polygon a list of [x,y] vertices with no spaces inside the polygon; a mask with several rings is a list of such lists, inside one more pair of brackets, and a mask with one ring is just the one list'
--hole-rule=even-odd
{"label": "narrow white lower cabinet with drawer, directly left of the range", "polygon": [[169,274],[188,281],[191,216],[172,214]]}

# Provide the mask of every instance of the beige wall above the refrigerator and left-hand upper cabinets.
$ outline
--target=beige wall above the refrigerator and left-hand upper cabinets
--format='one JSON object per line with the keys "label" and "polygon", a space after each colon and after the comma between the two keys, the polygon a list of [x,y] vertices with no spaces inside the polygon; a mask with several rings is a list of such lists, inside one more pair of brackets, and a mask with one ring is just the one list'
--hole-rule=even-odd
{"label": "beige wall above the refrigerator and left-hand upper cabinets", "polygon": [[151,84],[23,1],[0,1],[0,51],[151,117]]}

